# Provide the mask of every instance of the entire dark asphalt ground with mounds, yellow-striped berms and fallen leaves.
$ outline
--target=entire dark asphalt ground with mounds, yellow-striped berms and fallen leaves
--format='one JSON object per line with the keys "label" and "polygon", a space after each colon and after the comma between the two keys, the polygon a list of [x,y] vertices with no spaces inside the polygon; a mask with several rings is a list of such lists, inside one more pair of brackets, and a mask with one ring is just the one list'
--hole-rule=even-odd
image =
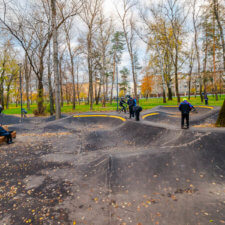
{"label": "entire dark asphalt ground with mounds, yellow-striped berms and fallen leaves", "polygon": [[218,109],[189,130],[176,108],[144,114],[5,117],[18,137],[0,146],[0,224],[225,224],[225,129],[204,126]]}

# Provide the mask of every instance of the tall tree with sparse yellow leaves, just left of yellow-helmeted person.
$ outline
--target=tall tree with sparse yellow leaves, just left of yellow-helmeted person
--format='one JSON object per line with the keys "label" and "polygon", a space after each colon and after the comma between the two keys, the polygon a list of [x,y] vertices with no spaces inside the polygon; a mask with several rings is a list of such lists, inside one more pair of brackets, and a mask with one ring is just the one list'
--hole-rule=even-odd
{"label": "tall tree with sparse yellow leaves, just left of yellow-helmeted person", "polygon": [[[166,19],[162,15],[162,6],[151,5],[145,6],[144,11],[140,10],[142,19],[142,32],[137,31],[139,37],[147,45],[147,52],[153,54],[153,62],[160,69],[163,87],[163,102],[166,102],[166,87],[168,89],[168,100],[172,100],[172,55],[171,50],[174,49],[174,38],[168,33],[171,26],[166,24]],[[169,45],[168,45],[169,44]],[[151,60],[151,59],[150,59]],[[149,65],[152,63],[149,62]]]}

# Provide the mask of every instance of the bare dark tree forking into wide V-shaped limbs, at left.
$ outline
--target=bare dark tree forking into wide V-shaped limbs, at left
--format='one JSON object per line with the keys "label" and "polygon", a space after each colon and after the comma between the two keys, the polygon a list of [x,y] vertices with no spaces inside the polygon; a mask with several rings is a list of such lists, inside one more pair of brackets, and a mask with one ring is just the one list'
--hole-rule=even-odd
{"label": "bare dark tree forking into wide V-shaped limbs, at left", "polygon": [[[42,114],[43,107],[43,74],[44,56],[49,42],[53,35],[53,30],[49,32],[48,4],[45,0],[35,2],[35,7],[27,7],[27,11],[13,1],[8,5],[8,13],[0,18],[0,22],[10,32],[12,36],[21,44],[27,55],[28,61],[38,80],[38,113]],[[60,4],[64,8],[64,16],[55,24],[55,31],[70,17],[77,14],[78,4],[73,1],[67,4]],[[65,9],[67,8],[67,9]],[[47,9],[47,10],[46,10]],[[62,9],[61,9],[62,10]],[[6,11],[5,11],[6,12]],[[29,41],[31,45],[29,46]],[[59,109],[57,109],[59,111]],[[59,114],[59,113],[58,113]],[[57,117],[58,117],[57,114]]]}

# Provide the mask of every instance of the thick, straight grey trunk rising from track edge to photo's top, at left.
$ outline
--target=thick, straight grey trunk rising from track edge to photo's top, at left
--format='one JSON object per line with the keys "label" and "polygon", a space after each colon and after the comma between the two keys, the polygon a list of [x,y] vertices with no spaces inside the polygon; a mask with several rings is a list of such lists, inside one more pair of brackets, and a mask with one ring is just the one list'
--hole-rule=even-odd
{"label": "thick, straight grey trunk rising from track edge to photo's top, at left", "polygon": [[59,77],[59,62],[58,62],[58,41],[56,27],[56,0],[51,0],[52,10],[52,30],[53,30],[53,61],[54,61],[54,76],[55,76],[55,107],[56,119],[61,117],[60,107],[60,77]]}

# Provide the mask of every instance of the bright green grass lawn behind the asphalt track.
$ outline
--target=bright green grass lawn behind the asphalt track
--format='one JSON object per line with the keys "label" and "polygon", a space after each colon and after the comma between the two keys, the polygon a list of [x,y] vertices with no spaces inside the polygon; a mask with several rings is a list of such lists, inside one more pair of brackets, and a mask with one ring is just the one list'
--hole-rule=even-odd
{"label": "bright green grass lawn behind the asphalt track", "polygon": [[[225,99],[225,95],[222,95],[221,97],[219,96],[219,100],[216,101],[213,96],[208,96],[209,97],[209,105],[210,106],[222,106],[222,103]],[[199,96],[191,97],[189,101],[192,105],[204,105],[204,103],[201,103],[201,99]],[[102,107],[101,104],[99,105],[94,105],[93,106],[93,111],[95,112],[104,112],[104,111],[115,111],[116,110],[116,102],[113,102],[112,105],[109,103],[106,104],[106,107]],[[158,105],[177,105],[177,99],[174,98],[172,101],[167,101],[167,103],[163,103],[162,98],[150,98],[150,99],[140,99],[140,106],[142,106],[143,109],[151,109],[154,108]],[[26,109],[26,105],[23,105],[23,108]],[[37,105],[31,105],[31,110],[28,111],[28,114],[33,114],[33,110],[37,108]],[[76,109],[72,110],[72,104],[67,105],[66,103],[62,107],[62,113],[80,113],[80,112],[88,112],[90,111],[90,106],[81,104],[81,105],[76,105]],[[20,114],[20,106],[16,107],[15,104],[11,104],[9,106],[9,109],[5,109],[3,111],[4,114]]]}

